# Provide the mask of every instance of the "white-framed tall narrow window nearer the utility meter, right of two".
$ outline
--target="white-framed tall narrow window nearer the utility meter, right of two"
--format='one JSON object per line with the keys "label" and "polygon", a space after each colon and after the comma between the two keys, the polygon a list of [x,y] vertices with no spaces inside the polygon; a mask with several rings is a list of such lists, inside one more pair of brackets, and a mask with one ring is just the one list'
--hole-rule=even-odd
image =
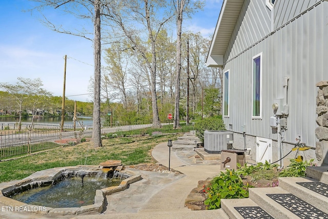
{"label": "white-framed tall narrow window nearer the utility meter, right of two", "polygon": [[253,117],[261,118],[262,53],[253,57]]}

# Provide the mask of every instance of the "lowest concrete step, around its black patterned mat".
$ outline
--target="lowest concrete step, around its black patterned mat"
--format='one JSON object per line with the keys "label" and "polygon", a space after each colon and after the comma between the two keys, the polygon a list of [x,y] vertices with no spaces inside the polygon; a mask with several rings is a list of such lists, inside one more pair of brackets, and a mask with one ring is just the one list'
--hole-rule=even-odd
{"label": "lowest concrete step, around its black patterned mat", "polygon": [[[244,217],[235,209],[235,207],[247,207],[247,209],[250,209],[252,212],[256,211],[257,213],[254,213],[257,215],[256,218],[259,218],[258,215],[259,206],[251,200],[251,198],[233,198],[233,199],[222,199],[221,200],[221,208],[226,212],[226,214],[231,219],[244,219]],[[253,207],[253,208],[252,208]],[[256,208],[256,210],[254,209]],[[261,215],[261,218],[270,218],[270,214],[268,215],[268,212],[264,211],[262,209],[261,211],[263,214]],[[253,214],[253,215],[254,215]]]}

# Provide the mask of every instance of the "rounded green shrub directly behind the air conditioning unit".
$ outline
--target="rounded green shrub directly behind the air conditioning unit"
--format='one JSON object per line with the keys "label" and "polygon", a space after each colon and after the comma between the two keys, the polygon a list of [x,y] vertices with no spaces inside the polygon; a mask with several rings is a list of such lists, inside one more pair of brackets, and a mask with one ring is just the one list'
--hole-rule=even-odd
{"label": "rounded green shrub directly behind the air conditioning unit", "polygon": [[221,116],[208,117],[203,120],[195,122],[194,129],[196,130],[196,136],[199,137],[200,141],[204,142],[204,131],[214,131],[214,130],[226,130],[226,125],[222,120]]}

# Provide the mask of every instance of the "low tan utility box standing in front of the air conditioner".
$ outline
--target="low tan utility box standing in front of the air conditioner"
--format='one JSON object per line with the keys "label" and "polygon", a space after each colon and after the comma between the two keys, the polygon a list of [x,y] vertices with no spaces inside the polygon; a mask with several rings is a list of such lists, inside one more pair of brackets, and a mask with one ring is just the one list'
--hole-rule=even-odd
{"label": "low tan utility box standing in front of the air conditioner", "polygon": [[221,170],[237,170],[237,163],[245,165],[245,150],[222,150],[221,151]]}

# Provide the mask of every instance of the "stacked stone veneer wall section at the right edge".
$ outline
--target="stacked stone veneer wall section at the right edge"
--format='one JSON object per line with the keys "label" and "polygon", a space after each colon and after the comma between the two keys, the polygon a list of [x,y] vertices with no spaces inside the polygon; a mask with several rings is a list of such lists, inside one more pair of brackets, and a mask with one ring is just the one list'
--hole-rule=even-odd
{"label": "stacked stone veneer wall section at the right edge", "polygon": [[317,96],[317,124],[316,156],[320,166],[328,165],[328,81],[322,81],[316,85],[319,87]]}

